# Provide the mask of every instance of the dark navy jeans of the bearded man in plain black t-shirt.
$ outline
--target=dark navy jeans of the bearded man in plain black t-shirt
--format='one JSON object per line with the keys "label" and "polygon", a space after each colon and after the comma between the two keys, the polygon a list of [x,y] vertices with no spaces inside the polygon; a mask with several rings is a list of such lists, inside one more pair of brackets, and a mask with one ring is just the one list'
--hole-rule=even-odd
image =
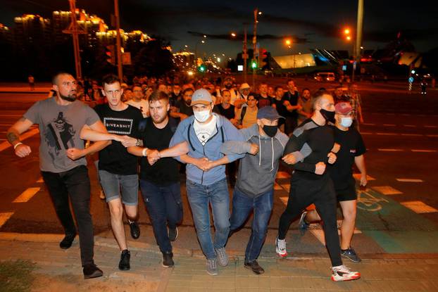
{"label": "dark navy jeans of the bearded man in plain black t-shirt", "polygon": [[171,253],[172,245],[167,225],[169,228],[175,229],[177,223],[182,220],[180,182],[168,186],[158,186],[140,179],[140,189],[161,253]]}

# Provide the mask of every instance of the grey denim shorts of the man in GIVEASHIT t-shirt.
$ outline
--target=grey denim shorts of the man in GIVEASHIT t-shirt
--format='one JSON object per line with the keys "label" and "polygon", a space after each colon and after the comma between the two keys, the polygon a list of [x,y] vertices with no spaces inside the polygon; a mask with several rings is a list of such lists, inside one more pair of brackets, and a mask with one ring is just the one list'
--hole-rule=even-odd
{"label": "grey denim shorts of the man in GIVEASHIT t-shirt", "polygon": [[139,178],[137,174],[112,174],[106,170],[99,170],[99,177],[106,203],[121,197],[125,205],[138,205]]}

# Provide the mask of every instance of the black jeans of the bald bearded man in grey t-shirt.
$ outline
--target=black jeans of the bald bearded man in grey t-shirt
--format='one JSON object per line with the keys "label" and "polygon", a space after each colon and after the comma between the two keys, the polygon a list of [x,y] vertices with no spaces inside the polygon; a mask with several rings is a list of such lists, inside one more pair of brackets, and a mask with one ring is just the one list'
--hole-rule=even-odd
{"label": "black jeans of the bald bearded man in grey t-shirt", "polygon": [[73,205],[77,220],[82,266],[93,264],[94,235],[92,215],[89,212],[90,183],[88,170],[81,165],[66,172],[42,172],[42,177],[54,203],[56,215],[65,234],[75,234],[76,227],[70,212],[68,198]]}

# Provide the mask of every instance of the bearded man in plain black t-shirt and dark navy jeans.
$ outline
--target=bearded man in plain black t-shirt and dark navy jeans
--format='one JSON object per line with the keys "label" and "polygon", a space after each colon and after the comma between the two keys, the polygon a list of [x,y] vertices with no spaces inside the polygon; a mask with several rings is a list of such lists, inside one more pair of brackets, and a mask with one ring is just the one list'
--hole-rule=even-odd
{"label": "bearded man in plain black t-shirt and dark navy jeans", "polygon": [[[163,253],[163,267],[174,265],[170,241],[177,239],[177,223],[182,220],[178,162],[170,157],[165,158],[163,151],[168,148],[178,123],[174,118],[168,117],[169,109],[167,94],[158,92],[151,96],[151,117],[144,120],[140,127],[146,148],[128,148],[130,153],[142,156],[140,188],[151,217],[156,241]],[[158,151],[161,151],[161,155],[158,155]]]}

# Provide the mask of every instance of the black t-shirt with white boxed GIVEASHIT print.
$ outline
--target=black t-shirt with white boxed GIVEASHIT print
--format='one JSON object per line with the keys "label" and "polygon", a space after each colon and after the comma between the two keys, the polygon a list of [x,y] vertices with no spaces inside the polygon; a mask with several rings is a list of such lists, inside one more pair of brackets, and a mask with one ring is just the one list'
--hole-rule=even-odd
{"label": "black t-shirt with white boxed GIVEASHIT print", "polygon": [[[139,138],[138,126],[143,115],[138,108],[127,106],[125,110],[118,111],[103,104],[94,110],[109,133]],[[120,142],[112,141],[99,152],[99,170],[121,175],[137,174],[137,156],[128,153]]]}

